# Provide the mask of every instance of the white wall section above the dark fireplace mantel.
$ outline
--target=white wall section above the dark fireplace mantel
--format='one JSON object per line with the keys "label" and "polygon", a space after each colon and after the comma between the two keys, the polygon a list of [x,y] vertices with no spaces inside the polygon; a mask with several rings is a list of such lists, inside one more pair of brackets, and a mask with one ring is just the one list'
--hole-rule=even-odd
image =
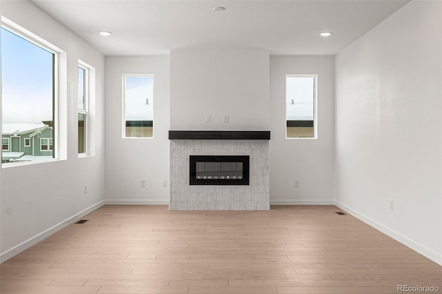
{"label": "white wall section above the dark fireplace mantel", "polygon": [[267,50],[171,50],[171,130],[268,129]]}

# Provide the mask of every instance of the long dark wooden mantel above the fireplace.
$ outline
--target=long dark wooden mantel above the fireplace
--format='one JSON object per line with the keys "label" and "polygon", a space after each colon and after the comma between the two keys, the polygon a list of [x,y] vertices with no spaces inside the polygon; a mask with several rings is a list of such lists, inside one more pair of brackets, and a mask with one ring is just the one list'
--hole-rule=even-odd
{"label": "long dark wooden mantel above the fireplace", "polygon": [[269,130],[169,130],[169,140],[269,140]]}

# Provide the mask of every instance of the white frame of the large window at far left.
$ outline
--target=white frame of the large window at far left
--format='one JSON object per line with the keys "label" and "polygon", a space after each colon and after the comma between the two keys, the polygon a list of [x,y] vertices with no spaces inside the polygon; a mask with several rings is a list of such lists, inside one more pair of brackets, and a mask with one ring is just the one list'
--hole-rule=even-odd
{"label": "white frame of the large window at far left", "polygon": [[[62,144],[61,140],[59,139],[59,130],[61,130],[61,126],[65,126],[66,122],[62,122],[60,120],[60,104],[63,105],[63,103],[60,103],[61,97],[66,97],[66,92],[61,91],[61,86],[67,86],[66,84],[66,75],[62,74],[63,69],[66,69],[66,52],[58,48],[57,46],[53,45],[49,41],[46,41],[46,39],[43,39],[39,37],[38,35],[35,35],[34,33],[30,32],[30,30],[27,30],[26,28],[23,28],[19,24],[10,21],[6,17],[1,16],[1,28],[5,28],[6,30],[9,30],[13,34],[25,39],[26,41],[34,44],[35,46],[38,46],[54,55],[53,59],[53,72],[52,72],[52,79],[53,79],[53,92],[52,92],[52,122],[53,122],[53,130],[52,134],[52,159],[47,160],[37,160],[37,161],[24,161],[24,162],[14,162],[14,163],[8,163],[8,164],[1,164],[1,168],[10,168],[13,166],[21,166],[21,165],[28,165],[28,164],[44,164],[48,161],[57,161],[60,159],[66,159],[66,144],[63,144],[63,149],[61,149],[60,145]],[[61,78],[65,78],[65,80],[62,80]],[[63,85],[61,85],[63,84]],[[64,114],[64,112],[62,112]],[[66,115],[66,114],[65,114]],[[43,150],[45,151],[45,150]],[[63,158],[61,158],[63,157]]]}

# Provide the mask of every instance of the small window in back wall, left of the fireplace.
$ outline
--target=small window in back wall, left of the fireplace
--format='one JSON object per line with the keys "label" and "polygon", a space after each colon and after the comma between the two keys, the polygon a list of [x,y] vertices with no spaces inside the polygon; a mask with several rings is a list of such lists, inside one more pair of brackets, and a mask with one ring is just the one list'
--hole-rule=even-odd
{"label": "small window in back wall, left of the fireplace", "polygon": [[153,137],[153,75],[124,75],[123,137]]}

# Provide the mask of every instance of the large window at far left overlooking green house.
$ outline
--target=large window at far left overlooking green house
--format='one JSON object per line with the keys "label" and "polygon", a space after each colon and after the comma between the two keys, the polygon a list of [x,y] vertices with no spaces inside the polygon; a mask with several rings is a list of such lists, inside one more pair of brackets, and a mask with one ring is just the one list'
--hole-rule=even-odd
{"label": "large window at far left overlooking green house", "polygon": [[[2,164],[55,157],[56,62],[57,54],[50,48],[2,26]],[[40,144],[23,148],[25,139]]]}

